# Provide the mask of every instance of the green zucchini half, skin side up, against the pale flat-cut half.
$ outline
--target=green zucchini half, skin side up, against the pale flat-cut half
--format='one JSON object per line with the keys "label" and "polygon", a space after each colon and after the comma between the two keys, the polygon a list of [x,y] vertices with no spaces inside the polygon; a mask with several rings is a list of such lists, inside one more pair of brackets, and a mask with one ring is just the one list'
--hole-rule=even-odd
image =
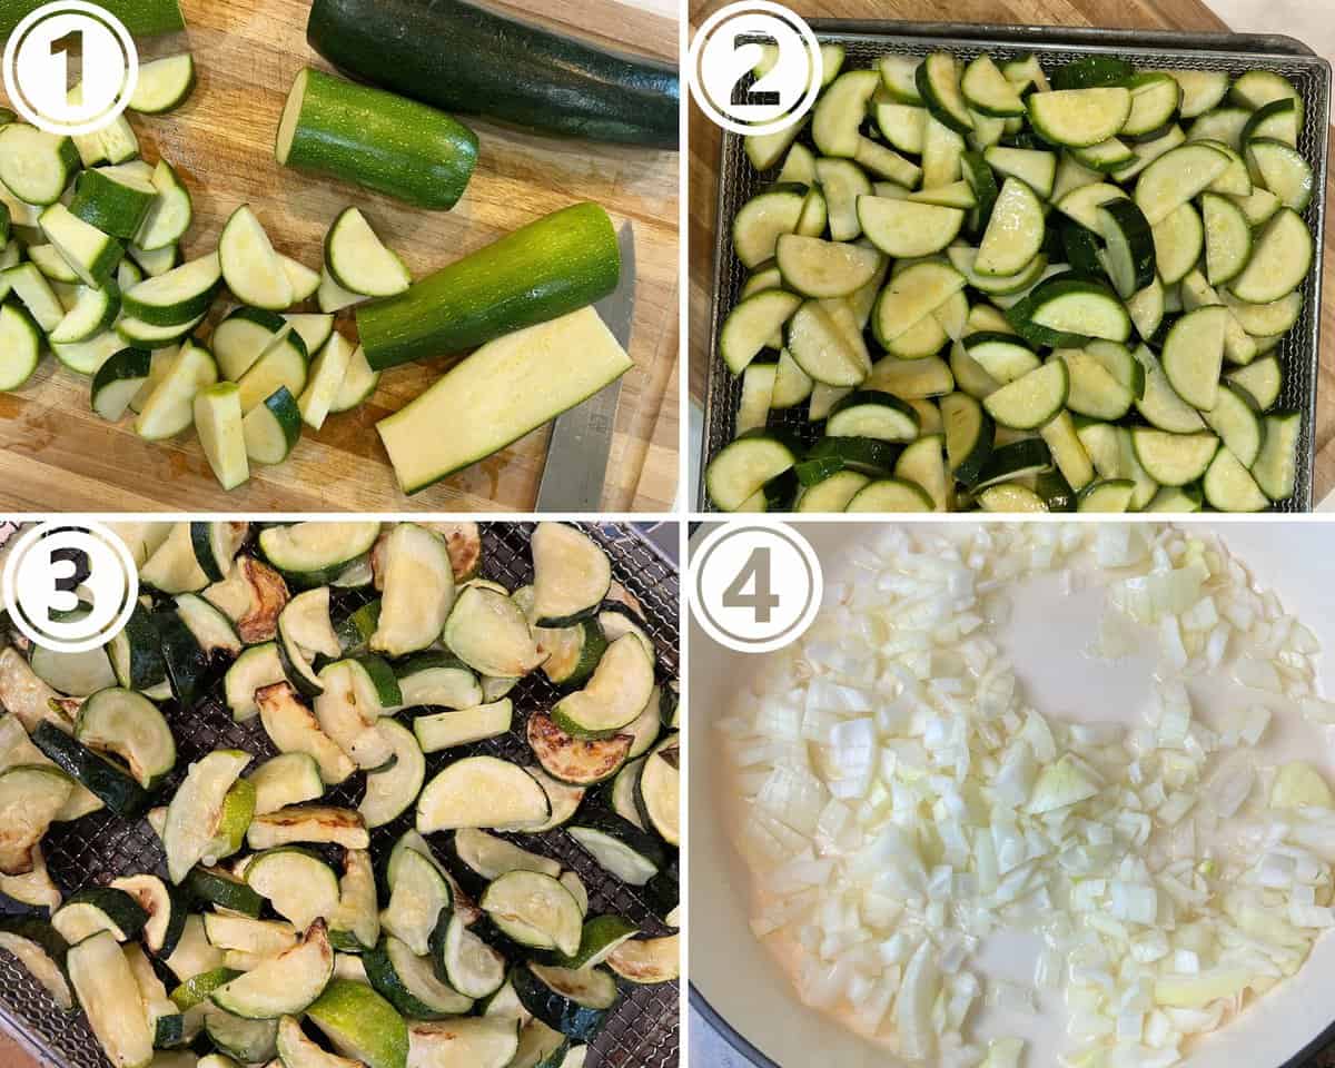
{"label": "green zucchini half, skin side up, against the pale flat-cut half", "polygon": [[449,356],[559,319],[607,296],[621,280],[611,219],[583,203],[538,219],[356,311],[375,371]]}

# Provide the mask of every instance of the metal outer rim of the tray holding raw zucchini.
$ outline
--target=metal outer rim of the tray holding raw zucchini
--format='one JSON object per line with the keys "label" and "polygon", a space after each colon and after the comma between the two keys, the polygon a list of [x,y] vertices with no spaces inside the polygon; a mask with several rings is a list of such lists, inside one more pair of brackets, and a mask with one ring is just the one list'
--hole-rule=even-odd
{"label": "metal outer rim of the tray holding raw zucchini", "polygon": [[[1057,27],[1057,25],[1004,25],[997,23],[968,24],[968,23],[910,23],[898,20],[856,20],[856,19],[812,19],[809,25],[822,40],[832,41],[860,41],[906,44],[924,47],[933,41],[943,44],[959,44],[967,41],[980,47],[997,45],[1001,48],[1031,47],[1037,51],[1116,51],[1120,55],[1152,56],[1163,52],[1183,55],[1188,52],[1206,52],[1216,60],[1232,59],[1247,61],[1298,63],[1310,65],[1324,73],[1326,88],[1326,121],[1319,123],[1316,167],[1314,170],[1324,175],[1330,159],[1330,123],[1331,123],[1331,63],[1314,52],[1307,44],[1282,33],[1228,33],[1204,31],[1173,31],[1173,29],[1109,29],[1100,27]],[[1096,43],[1097,41],[1097,43]],[[1152,41],[1147,45],[1145,41]],[[729,152],[738,151],[741,138],[737,134],[725,131],[722,134],[720,160],[725,160]],[[1318,183],[1314,198],[1315,227],[1312,238],[1316,244],[1315,264],[1312,268],[1314,299],[1307,302],[1310,307],[1303,308],[1308,316],[1312,330],[1311,352],[1303,352],[1304,364],[1311,368],[1312,387],[1304,398],[1303,414],[1307,421],[1306,449],[1299,459],[1299,490],[1290,502],[1286,502],[1286,511],[1310,513],[1314,509],[1312,478],[1316,466],[1316,394],[1320,366],[1320,307],[1323,283],[1322,248],[1326,234],[1326,191],[1327,183]],[[700,485],[697,487],[697,507],[701,513],[717,511],[709,501],[705,485],[705,474],[709,461],[713,458],[710,439],[713,437],[714,421],[718,413],[714,410],[714,387],[718,376],[725,374],[716,351],[718,347],[718,332],[722,328],[724,300],[722,280],[726,256],[729,254],[726,234],[730,220],[726,218],[726,168],[720,166],[717,183],[718,202],[714,212],[714,264],[713,264],[713,294],[710,296],[709,318],[709,363],[705,379],[705,418],[702,430],[702,455],[700,463]]]}

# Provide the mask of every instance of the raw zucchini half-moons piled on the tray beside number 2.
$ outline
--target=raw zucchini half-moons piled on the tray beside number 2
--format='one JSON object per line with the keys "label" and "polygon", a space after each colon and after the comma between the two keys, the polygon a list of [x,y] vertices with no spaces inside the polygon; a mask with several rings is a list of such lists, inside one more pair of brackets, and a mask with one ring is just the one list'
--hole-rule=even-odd
{"label": "raw zucchini half-moons piled on the tray beside number 2", "polygon": [[1311,427],[1282,344],[1311,299],[1304,101],[1268,71],[844,69],[745,139],[766,184],[718,332],[724,511],[1260,511]]}

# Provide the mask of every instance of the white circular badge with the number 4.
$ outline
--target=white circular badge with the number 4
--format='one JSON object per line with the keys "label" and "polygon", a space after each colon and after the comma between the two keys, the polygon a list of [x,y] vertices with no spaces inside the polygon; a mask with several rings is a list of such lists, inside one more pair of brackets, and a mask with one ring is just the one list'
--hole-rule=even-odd
{"label": "white circular badge with the number 4", "polygon": [[696,622],[737,653],[790,645],[821,607],[821,562],[789,526],[721,526],[692,551],[690,573]]}

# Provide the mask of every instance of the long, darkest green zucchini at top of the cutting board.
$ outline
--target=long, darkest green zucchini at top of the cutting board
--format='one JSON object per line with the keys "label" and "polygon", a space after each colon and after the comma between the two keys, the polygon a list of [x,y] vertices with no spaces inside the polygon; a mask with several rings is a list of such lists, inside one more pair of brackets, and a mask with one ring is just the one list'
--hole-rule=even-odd
{"label": "long, darkest green zucchini at top of the cutting board", "polygon": [[306,36],[336,67],[446,111],[555,136],[678,143],[676,64],[467,0],[315,0]]}

